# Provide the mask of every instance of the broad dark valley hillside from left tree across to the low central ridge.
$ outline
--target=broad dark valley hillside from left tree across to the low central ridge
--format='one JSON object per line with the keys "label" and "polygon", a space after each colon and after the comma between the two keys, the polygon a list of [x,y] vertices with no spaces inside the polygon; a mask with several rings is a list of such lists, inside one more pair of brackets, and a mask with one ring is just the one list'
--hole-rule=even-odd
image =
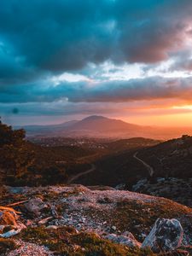
{"label": "broad dark valley hillside from left tree across to the low central ridge", "polygon": [[[97,171],[100,168],[100,160],[108,159],[110,156],[113,158],[113,155],[123,154],[132,148],[143,148],[159,143],[145,138],[113,141],[65,137],[36,137],[29,142],[25,140],[23,130],[14,131],[11,126],[3,124],[0,124],[0,129],[4,133],[0,155],[1,179],[9,185],[68,183],[69,180],[74,180],[74,176],[89,170],[96,170],[91,174],[99,177]],[[108,163],[110,167],[111,162]],[[118,159],[116,164],[119,165]],[[115,173],[113,178],[116,179]],[[78,182],[77,179],[75,182]]]}

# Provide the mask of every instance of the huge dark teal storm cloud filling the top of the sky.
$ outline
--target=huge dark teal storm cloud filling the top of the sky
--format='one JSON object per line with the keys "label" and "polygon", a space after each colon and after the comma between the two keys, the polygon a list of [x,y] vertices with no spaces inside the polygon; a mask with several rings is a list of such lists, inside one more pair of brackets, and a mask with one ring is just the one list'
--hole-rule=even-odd
{"label": "huge dark teal storm cloud filling the top of the sky", "polygon": [[164,60],[182,44],[191,6],[185,0],[2,0],[0,74],[18,77],[22,68],[30,73],[26,67],[63,72],[108,59]]}

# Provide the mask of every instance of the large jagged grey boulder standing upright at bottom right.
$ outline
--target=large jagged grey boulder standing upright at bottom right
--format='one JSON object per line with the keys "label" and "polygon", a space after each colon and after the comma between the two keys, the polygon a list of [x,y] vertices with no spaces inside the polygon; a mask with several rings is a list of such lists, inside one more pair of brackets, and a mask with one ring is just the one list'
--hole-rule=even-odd
{"label": "large jagged grey boulder standing upright at bottom right", "polygon": [[158,218],[142,247],[150,247],[154,253],[169,252],[180,247],[182,240],[183,228],[177,219]]}

